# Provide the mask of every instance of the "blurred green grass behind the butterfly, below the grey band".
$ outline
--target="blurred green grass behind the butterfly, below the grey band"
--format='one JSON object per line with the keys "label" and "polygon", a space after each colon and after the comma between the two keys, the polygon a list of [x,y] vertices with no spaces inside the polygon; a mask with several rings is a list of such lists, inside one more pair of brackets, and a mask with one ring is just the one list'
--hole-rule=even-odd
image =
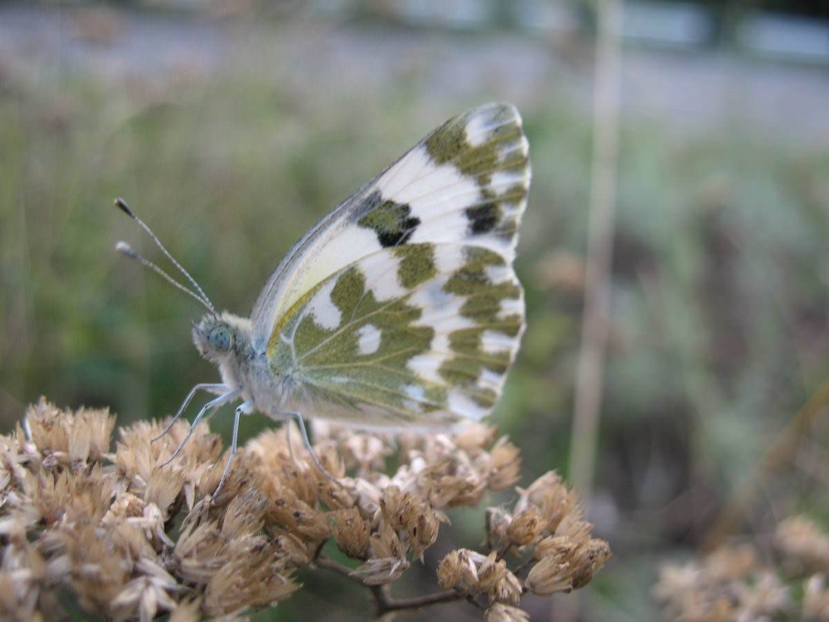
{"label": "blurred green grass behind the butterfly, below the grey band", "polygon": [[[114,197],[218,306],[245,314],[308,226],[444,118],[493,99],[435,103],[405,78],[363,99],[321,98],[244,69],[0,86],[3,430],[41,394],[111,406],[123,425],[167,415],[216,377],[190,343],[197,305],[114,254],[124,239],[158,255]],[[537,95],[517,102],[534,168],[517,264],[528,329],[493,417],[521,445],[527,477],[567,464],[590,157],[584,111]],[[738,114],[696,134],[626,119],[594,517],[620,561],[591,588],[594,610],[652,615],[643,560],[699,542],[829,376],[827,172],[829,148],[769,138]],[[226,435],[230,418],[214,425]],[[243,436],[266,425],[248,417]],[[797,481],[769,484],[769,512],[829,509],[812,479]],[[455,517],[454,537],[477,534],[475,520]],[[279,619],[308,606],[335,612],[311,590]]]}

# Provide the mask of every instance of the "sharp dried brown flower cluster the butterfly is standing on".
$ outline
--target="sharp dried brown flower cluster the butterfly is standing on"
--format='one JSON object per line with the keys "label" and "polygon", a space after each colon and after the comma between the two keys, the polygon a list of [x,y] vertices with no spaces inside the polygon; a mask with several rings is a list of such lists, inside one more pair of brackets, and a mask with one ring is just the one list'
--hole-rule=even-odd
{"label": "sharp dried brown flower cluster the butterfly is standing on", "polygon": [[[395,600],[388,584],[423,559],[445,510],[516,483],[519,451],[493,428],[386,438],[318,424],[315,452],[341,485],[297,434],[269,430],[240,449],[211,499],[226,453],[206,424],[166,467],[187,423],[152,442],[162,424],[138,422],[110,452],[114,425],[107,411],[41,400],[0,436],[0,619],[59,619],[67,603],[112,620],[244,615],[291,595],[308,569],[368,586],[378,615],[467,599],[487,620],[527,620],[521,595],[584,586],[610,556],[548,473],[518,488],[511,510],[487,509],[488,554],[440,562],[445,591]],[[327,556],[329,541],[356,562]]]}

